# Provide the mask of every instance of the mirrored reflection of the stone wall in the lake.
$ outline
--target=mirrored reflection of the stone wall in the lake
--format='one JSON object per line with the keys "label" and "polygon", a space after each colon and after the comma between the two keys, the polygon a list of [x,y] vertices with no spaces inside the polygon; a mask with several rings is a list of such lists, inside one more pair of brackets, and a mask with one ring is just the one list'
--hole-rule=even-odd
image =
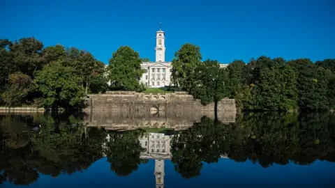
{"label": "mirrored reflection of the stone wall in the lake", "polygon": [[[165,127],[184,130],[200,122],[202,116],[214,119],[214,111],[159,111],[151,114],[147,111],[90,111],[84,117],[84,123],[92,127],[106,127],[109,130],[133,130],[138,128]],[[218,120],[222,123],[234,123],[235,111],[219,111]]]}

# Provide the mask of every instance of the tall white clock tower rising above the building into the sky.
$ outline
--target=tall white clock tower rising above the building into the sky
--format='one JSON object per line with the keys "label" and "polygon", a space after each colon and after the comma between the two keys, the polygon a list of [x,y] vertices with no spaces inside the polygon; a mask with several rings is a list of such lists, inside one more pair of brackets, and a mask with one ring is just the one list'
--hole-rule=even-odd
{"label": "tall white clock tower rising above the building into the sky", "polygon": [[162,24],[159,24],[159,31],[156,31],[156,62],[165,62],[165,32],[162,31]]}

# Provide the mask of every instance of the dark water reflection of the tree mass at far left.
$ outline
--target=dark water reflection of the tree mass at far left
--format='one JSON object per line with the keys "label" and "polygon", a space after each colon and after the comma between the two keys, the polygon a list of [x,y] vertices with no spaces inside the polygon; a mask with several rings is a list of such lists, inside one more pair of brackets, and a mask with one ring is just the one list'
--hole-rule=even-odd
{"label": "dark water reflection of the tree mass at far left", "polygon": [[[1,183],[9,181],[15,185],[29,185],[38,179],[38,172],[54,177],[61,173],[72,174],[87,169],[103,157],[101,144],[105,141],[105,130],[85,129],[74,116],[55,119],[44,115],[39,118],[38,123],[42,125],[40,134],[17,130],[16,127],[13,129],[15,132],[8,132],[10,126],[13,127],[10,123],[8,126],[5,124],[7,132],[3,132],[1,127]],[[22,116],[2,118],[10,119],[27,125],[27,118]]]}

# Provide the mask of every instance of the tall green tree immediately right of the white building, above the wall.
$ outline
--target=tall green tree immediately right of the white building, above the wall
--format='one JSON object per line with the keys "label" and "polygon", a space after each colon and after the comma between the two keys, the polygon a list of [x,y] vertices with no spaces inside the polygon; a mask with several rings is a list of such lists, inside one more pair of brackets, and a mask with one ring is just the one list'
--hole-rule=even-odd
{"label": "tall green tree immediately right of the white building, above the wall", "polygon": [[171,79],[175,86],[190,91],[194,82],[194,70],[201,63],[200,47],[186,43],[174,54]]}

